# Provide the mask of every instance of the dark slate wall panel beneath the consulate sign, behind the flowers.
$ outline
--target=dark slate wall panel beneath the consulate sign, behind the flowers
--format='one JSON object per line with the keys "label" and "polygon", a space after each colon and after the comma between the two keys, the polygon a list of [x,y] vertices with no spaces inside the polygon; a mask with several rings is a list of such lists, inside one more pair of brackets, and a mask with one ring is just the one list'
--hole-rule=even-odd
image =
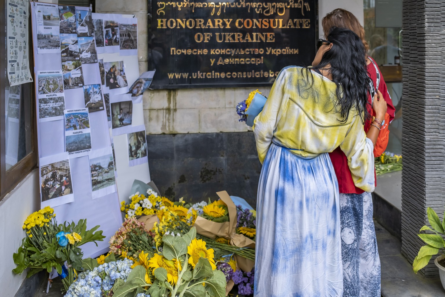
{"label": "dark slate wall panel beneath the consulate sign, behind the flowers", "polygon": [[162,194],[199,202],[226,190],[256,207],[261,163],[252,132],[153,134],[147,147]]}

